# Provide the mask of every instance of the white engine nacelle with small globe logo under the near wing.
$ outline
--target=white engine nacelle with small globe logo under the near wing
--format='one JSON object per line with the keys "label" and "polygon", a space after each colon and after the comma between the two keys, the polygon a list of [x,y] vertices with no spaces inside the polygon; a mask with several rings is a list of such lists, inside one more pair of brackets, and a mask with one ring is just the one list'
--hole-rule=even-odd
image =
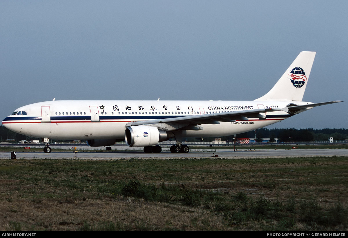
{"label": "white engine nacelle with small globe logo under the near wing", "polygon": [[158,130],[155,126],[130,126],[125,131],[125,140],[130,147],[155,146],[173,136],[172,133]]}

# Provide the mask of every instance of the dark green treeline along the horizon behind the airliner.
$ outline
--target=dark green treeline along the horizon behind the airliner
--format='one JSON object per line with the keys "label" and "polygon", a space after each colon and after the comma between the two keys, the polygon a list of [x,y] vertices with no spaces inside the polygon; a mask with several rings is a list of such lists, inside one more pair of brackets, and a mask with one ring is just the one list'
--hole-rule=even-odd
{"label": "dark green treeline along the horizon behind the airliner", "polygon": [[[339,128],[339,129],[295,129],[295,128],[285,128],[285,129],[267,129],[261,128],[254,131],[245,132],[242,134],[237,134],[231,136],[221,137],[222,141],[233,141],[234,138],[256,138],[256,141],[262,141],[263,138],[270,138],[270,142],[274,139],[278,139],[281,142],[291,142],[291,141],[321,141],[328,140],[329,137],[333,137],[333,140],[345,140],[348,139],[348,129]],[[216,137],[203,138],[203,141],[213,141]],[[220,137],[219,137],[220,138]],[[3,125],[0,126],[0,141],[6,141],[7,139],[12,139],[15,142],[21,140],[38,140],[36,137],[24,136],[16,132],[10,131],[5,128]],[[58,140],[57,140],[58,141]],[[60,140],[67,141],[67,140]],[[70,141],[70,140],[69,140]],[[72,140],[71,140],[72,141]],[[186,141],[202,141],[201,138],[187,138]]]}

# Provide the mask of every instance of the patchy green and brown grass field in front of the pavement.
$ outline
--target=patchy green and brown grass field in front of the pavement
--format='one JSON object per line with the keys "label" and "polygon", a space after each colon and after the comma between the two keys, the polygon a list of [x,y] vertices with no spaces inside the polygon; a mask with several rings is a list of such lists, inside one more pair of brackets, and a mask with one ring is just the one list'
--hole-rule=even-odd
{"label": "patchy green and brown grass field in front of the pavement", "polygon": [[3,231],[347,231],[348,157],[0,160]]}

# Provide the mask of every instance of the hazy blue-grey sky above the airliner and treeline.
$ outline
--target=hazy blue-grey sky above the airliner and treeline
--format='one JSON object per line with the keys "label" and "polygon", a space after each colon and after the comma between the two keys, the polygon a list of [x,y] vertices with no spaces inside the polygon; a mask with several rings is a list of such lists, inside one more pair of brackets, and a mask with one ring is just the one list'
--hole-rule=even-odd
{"label": "hazy blue-grey sky above the airliner and treeline", "polygon": [[267,128],[347,128],[348,1],[0,1],[1,119],[56,100],[254,100],[316,51],[303,101]]}

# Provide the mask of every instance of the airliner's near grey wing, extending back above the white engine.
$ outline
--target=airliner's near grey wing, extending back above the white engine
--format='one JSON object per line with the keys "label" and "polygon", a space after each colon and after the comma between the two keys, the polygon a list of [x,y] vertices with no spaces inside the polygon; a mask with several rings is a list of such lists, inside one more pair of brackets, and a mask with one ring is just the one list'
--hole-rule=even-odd
{"label": "airliner's near grey wing, extending back above the white engine", "polygon": [[129,122],[126,124],[128,126],[138,126],[138,125],[149,125],[157,123],[184,123],[184,124],[220,124],[220,122],[235,122],[238,121],[248,121],[248,118],[263,118],[264,115],[261,113],[271,112],[275,110],[282,109],[253,109],[253,110],[243,110],[234,112],[222,112],[222,113],[212,113],[203,115],[192,115],[192,116],[180,116],[171,117],[164,119],[148,120],[148,121],[136,121]]}

